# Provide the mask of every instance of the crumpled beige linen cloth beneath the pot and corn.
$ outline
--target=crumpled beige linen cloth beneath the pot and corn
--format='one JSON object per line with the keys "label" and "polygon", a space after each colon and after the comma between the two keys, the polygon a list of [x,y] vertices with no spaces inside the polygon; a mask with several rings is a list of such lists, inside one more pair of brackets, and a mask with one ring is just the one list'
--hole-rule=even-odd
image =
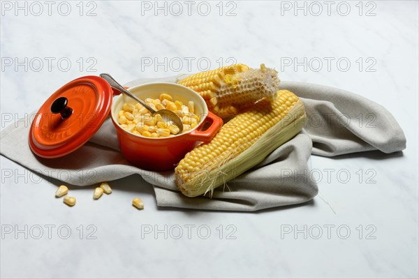
{"label": "crumpled beige linen cloth beneath the pot and corn", "polygon": [[[176,81],[177,77],[135,80],[126,86]],[[110,118],[87,144],[57,159],[34,156],[28,145],[29,124],[20,121],[1,131],[0,153],[33,172],[75,186],[140,174],[154,187],[158,206],[258,211],[301,204],[317,195],[318,186],[312,181],[307,165],[311,154],[332,157],[372,150],[392,153],[406,147],[404,133],[392,114],[367,98],[303,82],[281,82],[281,89],[293,91],[302,99],[307,111],[304,130],[262,163],[230,181],[228,187],[216,188],[212,198],[182,195],[177,190],[173,172],[149,172],[131,166],[119,152]]]}

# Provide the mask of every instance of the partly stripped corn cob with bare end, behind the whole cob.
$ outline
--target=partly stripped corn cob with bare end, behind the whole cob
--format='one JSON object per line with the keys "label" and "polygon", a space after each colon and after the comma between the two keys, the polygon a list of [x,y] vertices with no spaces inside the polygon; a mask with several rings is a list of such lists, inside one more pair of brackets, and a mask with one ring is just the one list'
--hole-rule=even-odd
{"label": "partly stripped corn cob with bare end, behind the whole cob", "polygon": [[259,69],[235,64],[197,73],[178,83],[200,93],[211,112],[226,118],[263,98],[274,100],[279,79],[277,71],[264,64]]}

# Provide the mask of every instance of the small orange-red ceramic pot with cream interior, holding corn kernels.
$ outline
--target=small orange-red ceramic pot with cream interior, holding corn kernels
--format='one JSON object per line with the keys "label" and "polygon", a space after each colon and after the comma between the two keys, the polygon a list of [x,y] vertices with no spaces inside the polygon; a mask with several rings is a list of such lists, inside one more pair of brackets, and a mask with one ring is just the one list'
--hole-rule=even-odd
{"label": "small orange-red ceramic pot with cream interior, holding corn kernels", "polygon": [[[136,103],[135,100],[123,94],[114,99],[111,116],[117,130],[122,154],[128,162],[142,169],[174,169],[177,163],[198,142],[210,142],[223,125],[221,118],[208,111],[205,100],[198,93],[185,86],[172,83],[150,83],[131,87],[128,91],[142,100],[159,98],[163,91],[169,93],[173,100],[179,100],[184,104],[192,100],[195,104],[195,114],[200,116],[198,126],[185,133],[174,137],[143,137],[124,130],[118,123],[118,114],[119,110],[122,110],[122,105],[124,103],[134,104]],[[204,126],[205,130],[203,130]]]}

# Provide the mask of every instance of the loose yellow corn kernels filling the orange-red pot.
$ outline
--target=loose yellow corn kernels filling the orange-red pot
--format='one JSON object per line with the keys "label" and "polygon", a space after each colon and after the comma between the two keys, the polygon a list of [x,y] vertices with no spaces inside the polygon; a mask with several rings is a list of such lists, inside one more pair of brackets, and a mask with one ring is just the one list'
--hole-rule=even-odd
{"label": "loose yellow corn kernels filling the orange-red pot", "polygon": [[[161,93],[158,99],[146,98],[145,103],[154,110],[171,110],[175,112],[184,124],[183,132],[198,126],[200,118],[195,114],[195,104],[189,101],[184,105],[179,100],[173,100],[168,93]],[[119,126],[135,135],[143,137],[172,137],[179,133],[172,121],[164,121],[160,114],[152,114],[140,103],[135,105],[124,103],[118,113]]]}

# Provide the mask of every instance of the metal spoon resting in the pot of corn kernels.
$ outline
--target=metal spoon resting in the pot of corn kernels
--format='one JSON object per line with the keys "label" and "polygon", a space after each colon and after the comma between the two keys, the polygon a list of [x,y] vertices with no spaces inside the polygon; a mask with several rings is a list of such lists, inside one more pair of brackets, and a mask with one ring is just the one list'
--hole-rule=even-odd
{"label": "metal spoon resting in the pot of corn kernels", "polygon": [[149,112],[151,112],[153,116],[154,116],[154,114],[160,114],[161,117],[163,117],[165,122],[172,121],[172,123],[174,123],[179,128],[179,133],[182,133],[182,130],[183,130],[182,119],[180,119],[179,116],[177,116],[177,114],[175,114],[175,112],[172,112],[171,110],[155,111],[151,107],[149,107],[143,100],[141,100],[140,98],[135,96],[130,91],[126,90],[124,88],[124,86],[119,84],[111,75],[103,73],[100,76],[103,78],[103,80],[106,80],[113,89],[116,89],[116,90],[120,91],[121,93],[124,93],[124,94],[130,96],[131,98],[133,98],[134,100],[136,100],[143,107],[145,107]]}

